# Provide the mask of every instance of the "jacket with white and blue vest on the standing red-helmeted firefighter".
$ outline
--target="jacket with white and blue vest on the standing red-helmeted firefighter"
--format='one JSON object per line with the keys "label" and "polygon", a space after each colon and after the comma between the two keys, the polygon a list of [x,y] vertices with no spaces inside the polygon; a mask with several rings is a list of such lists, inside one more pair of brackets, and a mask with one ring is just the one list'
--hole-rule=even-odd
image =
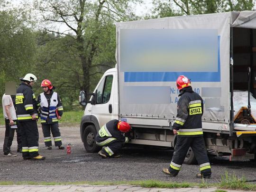
{"label": "jacket with white and blue vest on the standing red-helmeted firefighter", "polygon": [[58,93],[50,91],[38,95],[37,106],[39,107],[41,124],[54,124],[58,122],[57,115],[62,116],[63,107]]}

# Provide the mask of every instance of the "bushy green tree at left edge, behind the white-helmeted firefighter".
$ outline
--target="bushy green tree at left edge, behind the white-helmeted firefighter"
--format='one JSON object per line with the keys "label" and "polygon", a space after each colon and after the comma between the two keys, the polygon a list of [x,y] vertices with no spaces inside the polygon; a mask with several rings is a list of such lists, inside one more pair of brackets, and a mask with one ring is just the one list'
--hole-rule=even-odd
{"label": "bushy green tree at left edge, behind the white-helmeted firefighter", "polygon": [[8,1],[0,0],[0,87],[8,81],[19,83],[19,77],[33,73],[36,39],[27,23],[25,9],[10,8]]}

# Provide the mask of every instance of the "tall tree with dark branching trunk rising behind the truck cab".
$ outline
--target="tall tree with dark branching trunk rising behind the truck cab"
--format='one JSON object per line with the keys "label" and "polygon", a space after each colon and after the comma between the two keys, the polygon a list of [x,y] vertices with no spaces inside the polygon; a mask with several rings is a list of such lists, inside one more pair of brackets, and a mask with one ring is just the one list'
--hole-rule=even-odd
{"label": "tall tree with dark branching trunk rising behind the truck cab", "polygon": [[[90,91],[93,76],[115,65],[113,22],[135,17],[130,14],[129,3],[137,1],[42,0],[35,3],[44,21],[64,24],[68,28],[65,32],[47,28],[47,32],[66,36],[73,65],[82,69],[75,72],[77,74],[69,86],[75,83],[80,90]],[[102,52],[106,48],[111,53]]]}

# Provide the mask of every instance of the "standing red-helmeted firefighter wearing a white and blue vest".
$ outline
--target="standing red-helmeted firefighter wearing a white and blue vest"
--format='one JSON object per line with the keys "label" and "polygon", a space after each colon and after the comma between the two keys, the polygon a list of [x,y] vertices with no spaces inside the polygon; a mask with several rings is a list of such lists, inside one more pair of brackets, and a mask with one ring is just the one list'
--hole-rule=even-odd
{"label": "standing red-helmeted firefighter wearing a white and blue vest", "polygon": [[55,146],[64,150],[58,120],[63,114],[62,102],[59,95],[53,91],[52,83],[45,79],[41,83],[44,92],[38,95],[37,106],[39,107],[40,119],[44,134],[45,145],[48,150],[52,149],[51,132],[53,134]]}

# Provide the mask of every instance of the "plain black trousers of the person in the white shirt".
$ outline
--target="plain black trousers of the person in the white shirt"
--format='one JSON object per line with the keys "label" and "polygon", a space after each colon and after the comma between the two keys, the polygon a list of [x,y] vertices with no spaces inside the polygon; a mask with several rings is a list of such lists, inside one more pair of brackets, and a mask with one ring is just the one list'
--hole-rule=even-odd
{"label": "plain black trousers of the person in the white shirt", "polygon": [[10,146],[12,144],[15,131],[17,134],[17,143],[18,143],[17,150],[21,150],[21,132],[20,132],[20,127],[18,125],[18,122],[17,122],[18,128],[15,128],[15,129],[11,128],[9,123],[10,123],[9,119],[5,119],[5,137],[4,137],[4,144],[3,144],[4,155],[7,155],[10,152]]}

